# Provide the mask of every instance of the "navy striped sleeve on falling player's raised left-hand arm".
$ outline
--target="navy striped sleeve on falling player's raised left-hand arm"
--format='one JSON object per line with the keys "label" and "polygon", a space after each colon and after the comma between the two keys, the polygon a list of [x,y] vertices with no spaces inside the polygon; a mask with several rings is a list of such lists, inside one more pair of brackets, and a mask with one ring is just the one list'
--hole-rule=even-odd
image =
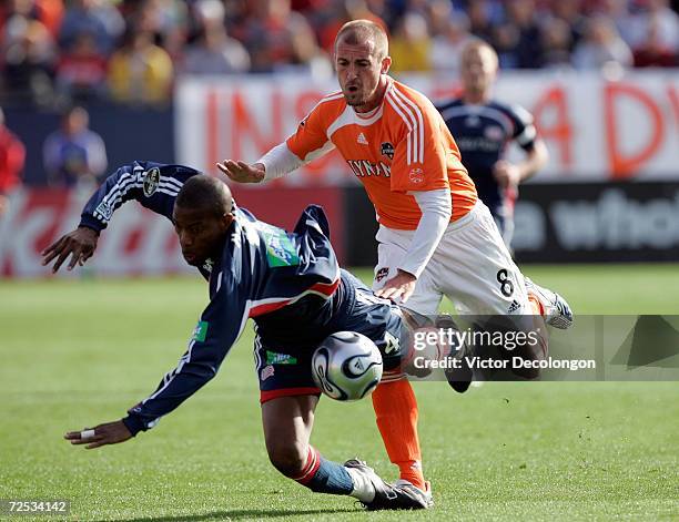
{"label": "navy striped sleeve on falling player's raised left-hand arm", "polygon": [[113,213],[131,199],[172,219],[174,199],[184,182],[200,174],[183,165],[134,162],[118,168],[90,197],[80,216],[80,226],[102,231]]}

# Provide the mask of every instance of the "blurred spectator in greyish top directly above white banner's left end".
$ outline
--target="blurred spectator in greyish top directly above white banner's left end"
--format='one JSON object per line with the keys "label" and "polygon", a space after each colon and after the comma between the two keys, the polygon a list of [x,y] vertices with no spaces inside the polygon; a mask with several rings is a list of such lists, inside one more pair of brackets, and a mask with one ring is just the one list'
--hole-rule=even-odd
{"label": "blurred spectator in greyish top directly above white banner's left end", "polygon": [[222,23],[210,23],[200,40],[190,45],[183,71],[189,74],[230,74],[247,72],[250,55],[237,40],[226,34]]}

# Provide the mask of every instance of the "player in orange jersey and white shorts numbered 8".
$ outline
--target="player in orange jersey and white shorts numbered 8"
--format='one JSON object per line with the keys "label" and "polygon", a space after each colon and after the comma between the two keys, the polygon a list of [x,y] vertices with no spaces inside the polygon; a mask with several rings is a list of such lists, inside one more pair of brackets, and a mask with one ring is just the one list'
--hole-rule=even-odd
{"label": "player in orange jersey and white shorts numbered 8", "polygon": [[[539,311],[556,326],[568,323],[570,310],[555,294],[529,299],[445,122],[425,95],[387,75],[391,63],[379,25],[347,22],[335,40],[341,91],[323,98],[292,136],[256,163],[226,160],[217,166],[235,182],[259,183],[337,149],[379,222],[378,296],[407,301],[422,314],[436,313],[446,295],[465,314]],[[373,405],[401,482],[425,489],[411,385],[404,378],[383,381]]]}

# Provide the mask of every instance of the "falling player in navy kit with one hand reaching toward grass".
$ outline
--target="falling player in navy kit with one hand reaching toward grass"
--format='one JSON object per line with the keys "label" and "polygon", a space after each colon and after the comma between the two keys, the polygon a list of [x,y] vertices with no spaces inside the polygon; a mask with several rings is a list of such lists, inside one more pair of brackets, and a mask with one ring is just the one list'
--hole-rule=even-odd
{"label": "falling player in navy kit with one hand reaching toward grass", "polygon": [[327,336],[364,334],[382,352],[386,372],[399,367],[402,350],[407,350],[405,337],[398,342],[407,337],[398,307],[375,298],[341,270],[323,209],[307,207],[288,234],[237,208],[221,180],[182,165],[135,162],[109,176],[85,205],[80,226],[45,248],[43,265],[54,262],[57,272],[69,256],[69,269],[84,264],[99,233],[129,199],[173,222],[184,258],[209,283],[210,304],[179,366],[149,398],[122,420],[65,438],[98,448],[153,428],[216,375],[252,318],[264,439],[273,465],[314,492],[352,495],[372,510],[428,508],[430,494],[411,484],[388,485],[358,460],[331,462],[310,444],[321,395],[311,358]]}

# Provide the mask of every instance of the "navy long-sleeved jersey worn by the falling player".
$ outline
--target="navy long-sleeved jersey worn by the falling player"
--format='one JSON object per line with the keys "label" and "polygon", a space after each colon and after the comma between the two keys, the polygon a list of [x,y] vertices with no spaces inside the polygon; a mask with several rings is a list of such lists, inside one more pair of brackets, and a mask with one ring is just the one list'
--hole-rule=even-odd
{"label": "navy long-sleeved jersey worn by the falling player", "polygon": [[[129,199],[172,218],[174,199],[193,175],[201,174],[181,165],[135,162],[121,167],[88,202],[81,225],[102,229]],[[155,392],[129,411],[124,421],[130,431],[153,427],[214,377],[249,318],[262,339],[286,346],[292,355],[351,326],[346,308],[353,306],[355,291],[341,277],[328,235],[325,214],[315,205],[304,211],[293,233],[236,208],[222,254],[201,268],[209,279],[210,304],[189,348]],[[391,305],[384,303],[388,311]],[[376,336],[384,334],[384,321],[377,327],[382,331]]]}

